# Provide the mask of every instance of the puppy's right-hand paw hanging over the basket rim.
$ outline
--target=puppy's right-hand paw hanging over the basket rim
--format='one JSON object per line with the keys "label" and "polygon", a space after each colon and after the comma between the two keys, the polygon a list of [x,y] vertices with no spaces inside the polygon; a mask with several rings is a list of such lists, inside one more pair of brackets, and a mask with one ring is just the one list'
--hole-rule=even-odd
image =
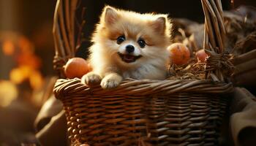
{"label": "puppy's right-hand paw hanging over the basket rim", "polygon": [[104,89],[116,88],[122,80],[123,78],[120,75],[112,73],[105,76],[102,79],[102,82],[100,82],[100,85]]}

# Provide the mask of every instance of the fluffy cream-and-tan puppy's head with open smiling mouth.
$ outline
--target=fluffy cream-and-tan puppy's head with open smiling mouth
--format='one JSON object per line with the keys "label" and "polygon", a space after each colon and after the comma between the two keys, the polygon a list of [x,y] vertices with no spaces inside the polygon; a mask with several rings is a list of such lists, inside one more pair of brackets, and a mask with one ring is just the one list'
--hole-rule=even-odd
{"label": "fluffy cream-and-tan puppy's head with open smiling mouth", "polygon": [[92,41],[99,43],[113,62],[135,66],[167,57],[170,26],[167,15],[140,14],[107,6]]}

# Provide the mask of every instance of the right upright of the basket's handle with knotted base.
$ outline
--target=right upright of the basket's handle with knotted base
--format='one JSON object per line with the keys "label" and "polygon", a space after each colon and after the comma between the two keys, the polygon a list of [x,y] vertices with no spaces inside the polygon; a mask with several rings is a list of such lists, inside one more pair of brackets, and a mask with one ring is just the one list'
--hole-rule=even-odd
{"label": "right upright of the basket's handle with knotted base", "polygon": [[201,0],[205,15],[203,49],[206,58],[206,79],[224,82],[233,73],[230,55],[225,51],[225,26],[220,0]]}

